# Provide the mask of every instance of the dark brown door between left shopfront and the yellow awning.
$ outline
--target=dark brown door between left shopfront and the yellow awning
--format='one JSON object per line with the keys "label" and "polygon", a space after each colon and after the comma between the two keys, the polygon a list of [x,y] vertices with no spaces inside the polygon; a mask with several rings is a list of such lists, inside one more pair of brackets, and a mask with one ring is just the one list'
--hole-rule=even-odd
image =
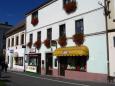
{"label": "dark brown door between left shopfront and the yellow awning", "polygon": [[46,74],[52,75],[52,53],[46,53]]}

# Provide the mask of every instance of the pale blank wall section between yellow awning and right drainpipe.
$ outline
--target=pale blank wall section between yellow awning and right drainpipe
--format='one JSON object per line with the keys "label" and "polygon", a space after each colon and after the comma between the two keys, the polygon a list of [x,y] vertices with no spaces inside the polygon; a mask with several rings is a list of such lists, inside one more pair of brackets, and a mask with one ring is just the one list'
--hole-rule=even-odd
{"label": "pale blank wall section between yellow awning and right drainpipe", "polygon": [[86,38],[89,48],[87,71],[107,74],[107,52],[105,35],[94,35]]}

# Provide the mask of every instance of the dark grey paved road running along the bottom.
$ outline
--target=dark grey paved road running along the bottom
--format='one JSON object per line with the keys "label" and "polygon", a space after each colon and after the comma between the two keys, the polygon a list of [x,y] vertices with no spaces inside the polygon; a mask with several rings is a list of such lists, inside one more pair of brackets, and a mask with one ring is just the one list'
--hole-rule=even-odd
{"label": "dark grey paved road running along the bottom", "polygon": [[7,86],[115,86],[115,84],[83,82],[54,78],[49,76],[30,76],[24,73],[8,72],[3,74]]}

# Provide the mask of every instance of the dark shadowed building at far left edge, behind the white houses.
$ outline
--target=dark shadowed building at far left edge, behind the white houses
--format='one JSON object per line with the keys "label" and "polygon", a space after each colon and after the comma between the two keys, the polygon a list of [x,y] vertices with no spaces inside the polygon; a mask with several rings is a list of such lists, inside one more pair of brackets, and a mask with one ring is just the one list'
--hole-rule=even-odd
{"label": "dark shadowed building at far left edge, behind the white houses", "polygon": [[0,56],[5,55],[6,49],[6,37],[5,33],[10,30],[13,26],[9,25],[8,22],[0,23]]}

